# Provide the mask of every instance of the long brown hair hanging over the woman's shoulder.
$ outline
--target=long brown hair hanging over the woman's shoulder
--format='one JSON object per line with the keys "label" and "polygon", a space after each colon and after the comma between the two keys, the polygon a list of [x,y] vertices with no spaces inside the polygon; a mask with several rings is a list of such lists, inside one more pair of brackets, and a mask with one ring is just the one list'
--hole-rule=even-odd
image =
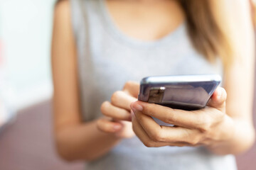
{"label": "long brown hair hanging over the woman's shoulder", "polygon": [[180,3],[186,14],[188,35],[195,49],[210,62],[220,57],[227,69],[233,61],[233,50],[228,36],[215,18],[210,1],[180,0]]}

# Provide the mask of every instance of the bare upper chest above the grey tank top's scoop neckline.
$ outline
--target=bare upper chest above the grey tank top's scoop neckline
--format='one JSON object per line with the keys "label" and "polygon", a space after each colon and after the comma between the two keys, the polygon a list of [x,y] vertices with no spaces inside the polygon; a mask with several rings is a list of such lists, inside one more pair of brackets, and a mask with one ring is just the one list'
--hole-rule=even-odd
{"label": "bare upper chest above the grey tank top's scoop neckline", "polygon": [[105,1],[114,25],[137,40],[158,40],[173,32],[184,14],[177,1]]}

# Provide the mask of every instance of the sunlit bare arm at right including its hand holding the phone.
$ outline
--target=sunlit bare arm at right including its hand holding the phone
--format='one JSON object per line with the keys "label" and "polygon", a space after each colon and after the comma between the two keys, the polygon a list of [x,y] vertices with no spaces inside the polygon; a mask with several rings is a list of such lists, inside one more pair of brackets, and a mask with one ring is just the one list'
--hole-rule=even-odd
{"label": "sunlit bare arm at right including its hand holding the phone", "polygon": [[[249,1],[213,0],[213,5],[234,50],[234,62],[224,77],[227,93],[218,88],[208,107],[198,111],[142,101],[132,103],[134,132],[147,147],[203,145],[216,154],[238,154],[249,149],[255,140],[252,125],[255,35]],[[150,116],[177,126],[161,127]]]}

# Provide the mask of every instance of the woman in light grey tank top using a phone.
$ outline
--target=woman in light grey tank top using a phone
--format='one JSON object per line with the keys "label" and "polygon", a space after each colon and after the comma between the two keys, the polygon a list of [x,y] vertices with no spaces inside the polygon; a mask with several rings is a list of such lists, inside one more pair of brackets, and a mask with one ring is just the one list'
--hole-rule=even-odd
{"label": "woman in light grey tank top using a phone", "polygon": [[[241,0],[59,1],[52,62],[60,156],[88,169],[235,169],[230,154],[255,137],[249,9]],[[137,101],[143,77],[213,73],[224,89],[202,110]]]}

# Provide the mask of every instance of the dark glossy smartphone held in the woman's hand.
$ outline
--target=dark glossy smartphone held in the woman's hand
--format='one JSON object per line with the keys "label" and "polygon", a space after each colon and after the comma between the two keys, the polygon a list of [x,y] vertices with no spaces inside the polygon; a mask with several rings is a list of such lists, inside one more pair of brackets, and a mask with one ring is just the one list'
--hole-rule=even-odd
{"label": "dark glossy smartphone held in the woman's hand", "polygon": [[[220,84],[218,74],[145,77],[140,82],[139,101],[193,111],[206,107]],[[154,118],[159,125],[172,126]]]}

